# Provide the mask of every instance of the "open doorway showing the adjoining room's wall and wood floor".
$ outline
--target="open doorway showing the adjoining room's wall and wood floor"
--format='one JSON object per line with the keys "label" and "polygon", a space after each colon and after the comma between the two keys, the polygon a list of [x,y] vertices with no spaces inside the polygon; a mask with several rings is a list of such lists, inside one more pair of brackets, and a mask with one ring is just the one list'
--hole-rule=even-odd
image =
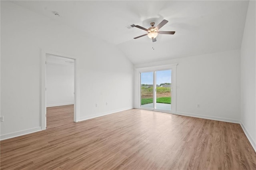
{"label": "open doorway showing the adjoining room's wall and wood floor", "polygon": [[74,120],[74,59],[46,54],[46,127]]}

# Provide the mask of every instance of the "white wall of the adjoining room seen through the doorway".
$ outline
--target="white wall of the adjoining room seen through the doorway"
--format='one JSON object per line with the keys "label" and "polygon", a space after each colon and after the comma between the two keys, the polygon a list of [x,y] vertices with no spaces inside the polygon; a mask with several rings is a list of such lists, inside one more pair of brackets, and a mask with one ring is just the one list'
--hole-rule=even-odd
{"label": "white wall of the adjoining room seen through the doorway", "polygon": [[46,107],[74,104],[74,63],[51,57],[46,57]]}

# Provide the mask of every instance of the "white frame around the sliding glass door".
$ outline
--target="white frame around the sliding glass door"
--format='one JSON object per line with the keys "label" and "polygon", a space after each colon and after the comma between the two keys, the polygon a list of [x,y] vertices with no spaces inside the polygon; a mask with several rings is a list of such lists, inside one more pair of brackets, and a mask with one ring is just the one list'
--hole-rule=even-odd
{"label": "white frame around the sliding glass door", "polygon": [[[175,64],[169,64],[169,65],[159,65],[159,66],[152,66],[152,67],[142,67],[142,68],[136,68],[135,70],[138,71],[138,77],[139,77],[139,100],[138,100],[138,106],[139,109],[144,109],[144,110],[153,110],[153,111],[160,111],[160,112],[165,112],[165,113],[173,113],[176,114],[176,67],[178,63]],[[141,107],[141,78],[140,78],[140,73],[145,73],[145,72],[153,72],[155,74],[155,71],[162,71],[162,70],[172,70],[172,109],[171,111],[165,111],[165,110],[159,110],[159,109],[154,109],[154,98],[156,97],[155,92],[153,91],[153,109],[146,109],[144,107]],[[153,75],[153,82],[154,86],[156,85],[155,83],[155,75]]]}

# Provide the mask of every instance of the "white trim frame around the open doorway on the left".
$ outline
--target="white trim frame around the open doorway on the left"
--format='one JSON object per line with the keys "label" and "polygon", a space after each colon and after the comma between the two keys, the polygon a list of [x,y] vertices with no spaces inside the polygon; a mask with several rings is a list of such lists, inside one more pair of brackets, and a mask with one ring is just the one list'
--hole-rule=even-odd
{"label": "white trim frame around the open doorway on the left", "polygon": [[63,58],[74,59],[74,122],[79,121],[78,99],[78,59],[77,57],[46,51],[41,49],[41,129],[46,129],[46,54],[56,55]]}

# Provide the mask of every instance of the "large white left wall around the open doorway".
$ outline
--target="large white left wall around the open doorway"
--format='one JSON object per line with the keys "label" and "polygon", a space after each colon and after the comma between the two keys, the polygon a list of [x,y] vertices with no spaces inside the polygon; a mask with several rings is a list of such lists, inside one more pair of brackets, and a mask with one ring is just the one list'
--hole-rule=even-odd
{"label": "large white left wall around the open doorway", "polygon": [[41,49],[76,57],[80,120],[132,108],[133,65],[116,46],[1,1],[1,139],[41,129]]}

